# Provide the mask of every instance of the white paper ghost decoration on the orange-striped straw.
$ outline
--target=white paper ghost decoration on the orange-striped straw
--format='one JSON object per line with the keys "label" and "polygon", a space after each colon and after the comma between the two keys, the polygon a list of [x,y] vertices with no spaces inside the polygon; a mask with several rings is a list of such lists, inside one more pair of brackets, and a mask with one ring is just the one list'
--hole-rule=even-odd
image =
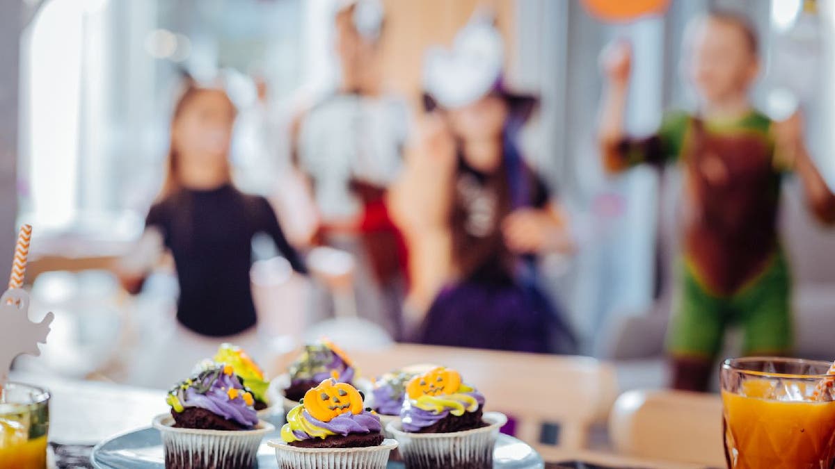
{"label": "white paper ghost decoration on the orange-striped straw", "polygon": [[13,288],[0,296],[0,386],[8,381],[8,371],[18,355],[38,356],[38,344],[45,344],[49,325],[54,319],[48,313],[39,323],[29,320],[29,294]]}

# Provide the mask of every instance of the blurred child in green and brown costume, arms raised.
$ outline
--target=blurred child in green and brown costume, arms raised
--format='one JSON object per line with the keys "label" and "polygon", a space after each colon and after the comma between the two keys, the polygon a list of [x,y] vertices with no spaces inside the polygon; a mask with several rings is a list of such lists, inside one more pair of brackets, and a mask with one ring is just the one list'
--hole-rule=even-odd
{"label": "blurred child in green and brown costume, arms raised", "polygon": [[792,350],[791,275],[777,236],[783,174],[799,174],[823,221],[835,221],[835,199],[807,154],[799,115],[775,123],[751,106],[760,60],[757,34],[744,18],[711,13],[691,23],[684,68],[698,108],[666,113],[646,139],[623,130],[630,56],[625,43],[603,56],[600,147],[611,172],[681,164],[683,253],[668,336],[672,386],[706,391],[728,325],[743,328],[745,354]]}

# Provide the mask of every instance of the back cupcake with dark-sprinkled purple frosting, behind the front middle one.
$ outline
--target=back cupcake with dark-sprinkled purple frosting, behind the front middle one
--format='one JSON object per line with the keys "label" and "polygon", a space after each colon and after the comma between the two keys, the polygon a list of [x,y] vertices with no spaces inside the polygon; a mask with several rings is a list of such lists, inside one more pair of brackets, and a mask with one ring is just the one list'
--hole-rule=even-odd
{"label": "back cupcake with dark-sprinkled purple frosting, behind the front middle one", "polygon": [[284,396],[290,401],[301,401],[308,390],[328,378],[353,384],[354,367],[337,345],[330,340],[317,340],[305,345],[301,356],[290,366],[290,384]]}

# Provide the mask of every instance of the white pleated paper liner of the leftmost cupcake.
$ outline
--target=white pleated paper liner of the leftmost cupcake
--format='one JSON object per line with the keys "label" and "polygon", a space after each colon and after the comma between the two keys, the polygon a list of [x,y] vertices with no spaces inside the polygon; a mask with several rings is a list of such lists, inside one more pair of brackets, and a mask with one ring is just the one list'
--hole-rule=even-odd
{"label": "white pleated paper liner of the leftmost cupcake", "polygon": [[174,418],[169,414],[155,416],[154,428],[162,436],[166,469],[250,469],[256,461],[261,439],[276,430],[275,426],[266,421],[258,421],[254,430],[175,428]]}

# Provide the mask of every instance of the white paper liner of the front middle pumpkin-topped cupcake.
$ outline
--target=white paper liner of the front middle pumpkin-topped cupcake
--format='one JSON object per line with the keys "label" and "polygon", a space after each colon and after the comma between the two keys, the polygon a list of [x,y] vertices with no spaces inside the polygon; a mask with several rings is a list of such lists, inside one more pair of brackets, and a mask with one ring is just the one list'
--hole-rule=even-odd
{"label": "white paper liner of the front middle pumpkin-topped cupcake", "polygon": [[300,448],[283,440],[267,441],[276,448],[279,469],[385,469],[397,441],[361,448]]}

